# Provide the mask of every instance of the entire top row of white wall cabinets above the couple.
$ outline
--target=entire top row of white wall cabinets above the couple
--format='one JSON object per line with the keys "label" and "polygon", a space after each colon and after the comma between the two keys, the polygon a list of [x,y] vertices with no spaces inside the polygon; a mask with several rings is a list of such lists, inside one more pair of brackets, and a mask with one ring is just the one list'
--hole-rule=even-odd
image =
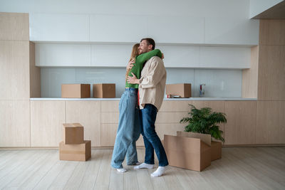
{"label": "entire top row of white wall cabinets above the couple", "polygon": [[30,14],[31,41],[254,46],[259,21],[247,18],[110,14]]}

